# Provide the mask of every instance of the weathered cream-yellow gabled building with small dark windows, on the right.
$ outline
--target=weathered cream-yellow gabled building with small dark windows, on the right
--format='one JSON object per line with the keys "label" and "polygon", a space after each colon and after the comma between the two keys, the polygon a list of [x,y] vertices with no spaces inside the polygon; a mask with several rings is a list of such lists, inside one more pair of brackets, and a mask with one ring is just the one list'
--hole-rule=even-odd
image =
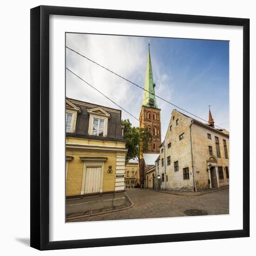
{"label": "weathered cream-yellow gabled building with small dark windows, on the right", "polygon": [[159,189],[200,191],[229,185],[229,132],[172,111],[156,161]]}

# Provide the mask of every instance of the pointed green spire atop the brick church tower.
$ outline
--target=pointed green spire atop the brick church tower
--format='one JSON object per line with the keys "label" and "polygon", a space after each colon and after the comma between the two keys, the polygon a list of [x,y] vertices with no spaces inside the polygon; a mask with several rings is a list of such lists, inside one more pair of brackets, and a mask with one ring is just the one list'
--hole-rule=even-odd
{"label": "pointed green spire atop the brick church tower", "polygon": [[144,89],[145,91],[143,94],[142,106],[146,106],[149,108],[158,108],[155,100],[155,83],[153,79],[149,44],[148,44],[148,61],[147,61]]}

